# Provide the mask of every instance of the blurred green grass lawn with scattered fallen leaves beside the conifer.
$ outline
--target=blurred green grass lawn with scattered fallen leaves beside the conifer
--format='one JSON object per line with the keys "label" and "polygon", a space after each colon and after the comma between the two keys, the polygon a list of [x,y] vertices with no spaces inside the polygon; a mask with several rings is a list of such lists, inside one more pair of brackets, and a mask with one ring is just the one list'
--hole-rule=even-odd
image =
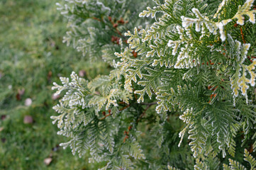
{"label": "blurred green grass lawn with scattered fallen leaves beside the conifer", "polygon": [[[96,169],[86,157],[57,147],[68,139],[57,135],[50,120],[57,115],[51,86],[73,70],[84,70],[86,79],[108,71],[103,62],[89,62],[62,43],[67,21],[56,2],[0,1],[0,169]],[[26,115],[33,123],[23,123]],[[46,165],[48,157],[52,162]]]}

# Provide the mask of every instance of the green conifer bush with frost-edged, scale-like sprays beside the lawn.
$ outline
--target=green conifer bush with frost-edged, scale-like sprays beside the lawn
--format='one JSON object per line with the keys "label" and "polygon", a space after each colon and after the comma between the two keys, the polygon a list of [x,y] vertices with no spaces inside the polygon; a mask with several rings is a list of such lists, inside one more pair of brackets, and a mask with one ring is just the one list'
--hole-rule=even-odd
{"label": "green conifer bush with frost-edged, scale-like sprays beside the lawn", "polygon": [[153,2],[58,4],[64,42],[111,67],[52,87],[61,145],[102,169],[255,169],[256,2]]}

